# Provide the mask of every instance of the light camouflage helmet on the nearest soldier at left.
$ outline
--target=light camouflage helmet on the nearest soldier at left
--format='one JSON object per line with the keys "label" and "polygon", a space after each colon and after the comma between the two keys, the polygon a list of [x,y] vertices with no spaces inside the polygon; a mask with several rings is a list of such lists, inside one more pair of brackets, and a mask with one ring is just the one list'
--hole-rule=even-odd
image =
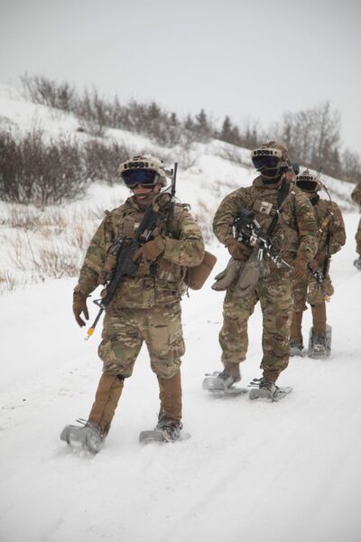
{"label": "light camouflage helmet on the nearest soldier at left", "polygon": [[[162,160],[151,154],[133,156],[133,158],[129,158],[119,165],[120,176],[129,188],[136,183],[134,180],[132,181],[130,173],[137,171],[140,173],[137,175],[136,182],[148,184],[149,186],[153,186],[157,182],[161,182],[163,186],[166,186],[167,178],[171,178],[171,172],[165,168]],[[153,172],[153,174],[147,174],[146,172]]]}

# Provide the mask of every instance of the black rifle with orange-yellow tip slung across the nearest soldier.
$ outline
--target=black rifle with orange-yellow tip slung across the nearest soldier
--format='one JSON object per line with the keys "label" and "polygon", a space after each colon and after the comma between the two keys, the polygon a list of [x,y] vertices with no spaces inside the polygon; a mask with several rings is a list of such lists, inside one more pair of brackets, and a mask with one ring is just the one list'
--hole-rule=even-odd
{"label": "black rifle with orange-yellow tip slung across the nearest soldier", "polygon": [[[169,194],[165,193],[160,194],[162,197],[164,195],[169,196]],[[86,340],[88,340],[89,337],[91,337],[91,335],[94,333],[100,316],[112,302],[113,297],[116,294],[116,290],[124,277],[134,275],[139,266],[139,262],[133,261],[134,254],[138,248],[140,248],[143,242],[148,241],[152,236],[153,229],[156,227],[163,212],[163,206],[161,207],[157,202],[154,202],[152,205],[148,205],[131,243],[125,244],[125,240],[123,238],[116,239],[116,242],[110,251],[110,254],[116,257],[116,266],[106,284],[106,295],[93,301],[93,303],[100,307],[100,310],[97,313],[97,317],[93,322],[93,325],[88,329],[88,337],[86,337]]]}

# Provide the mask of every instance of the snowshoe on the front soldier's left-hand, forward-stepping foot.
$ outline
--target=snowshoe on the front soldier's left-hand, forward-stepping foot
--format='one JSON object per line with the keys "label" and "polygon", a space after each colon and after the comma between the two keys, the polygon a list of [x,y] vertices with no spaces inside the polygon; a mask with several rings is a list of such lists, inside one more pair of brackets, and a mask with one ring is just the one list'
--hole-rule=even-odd
{"label": "snowshoe on the front soldier's left-hand, forward-stepping foot", "polygon": [[85,420],[77,421],[83,425],[67,425],[61,431],[60,439],[75,450],[83,450],[93,455],[100,452],[105,437],[97,426]]}

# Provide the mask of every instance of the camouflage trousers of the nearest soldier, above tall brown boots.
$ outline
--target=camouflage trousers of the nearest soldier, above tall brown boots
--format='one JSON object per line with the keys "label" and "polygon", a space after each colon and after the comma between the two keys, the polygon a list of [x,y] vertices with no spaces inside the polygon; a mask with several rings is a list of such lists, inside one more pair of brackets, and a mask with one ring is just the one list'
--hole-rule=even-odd
{"label": "camouflage trousers of the nearest soldier, above tall brown boots", "polygon": [[150,309],[109,308],[98,348],[103,373],[130,377],[143,341],[157,377],[173,377],[185,351],[179,302]]}

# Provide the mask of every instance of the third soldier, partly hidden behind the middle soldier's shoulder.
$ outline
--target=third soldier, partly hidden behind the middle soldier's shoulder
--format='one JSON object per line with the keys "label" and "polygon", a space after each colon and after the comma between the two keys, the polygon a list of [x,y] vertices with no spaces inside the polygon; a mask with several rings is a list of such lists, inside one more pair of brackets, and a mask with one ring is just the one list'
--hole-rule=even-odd
{"label": "third soldier, partly hidden behind the middle soldier's shoulder", "polygon": [[[296,177],[296,186],[310,199],[319,230],[319,248],[304,275],[292,281],[294,308],[291,324],[290,355],[301,355],[303,340],[302,314],[306,301],[312,310],[311,357],[325,357],[330,351],[327,344],[326,303],[334,289],[329,277],[330,257],[346,243],[345,224],[338,204],[319,198],[320,184],[309,170]],[[330,329],[329,329],[330,332]]]}

